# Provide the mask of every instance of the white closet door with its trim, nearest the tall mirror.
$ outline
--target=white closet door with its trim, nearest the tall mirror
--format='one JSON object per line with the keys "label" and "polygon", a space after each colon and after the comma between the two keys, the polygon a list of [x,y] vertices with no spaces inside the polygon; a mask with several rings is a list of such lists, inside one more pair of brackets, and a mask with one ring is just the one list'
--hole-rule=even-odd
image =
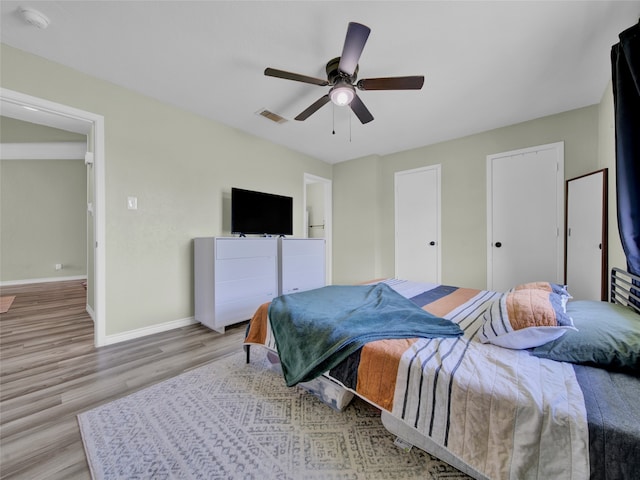
{"label": "white closet door with its trim, nearest the tall mirror", "polygon": [[487,288],[561,283],[564,144],[487,157]]}

